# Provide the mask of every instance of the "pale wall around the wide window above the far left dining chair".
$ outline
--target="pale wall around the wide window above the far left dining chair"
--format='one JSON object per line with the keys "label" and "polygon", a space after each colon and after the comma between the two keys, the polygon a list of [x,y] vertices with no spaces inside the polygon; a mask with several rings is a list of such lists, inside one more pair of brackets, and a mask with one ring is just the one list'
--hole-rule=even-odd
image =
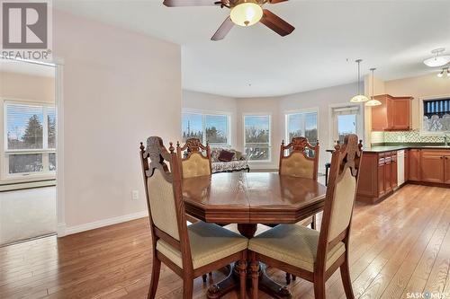
{"label": "pale wall around the wide window above the far left dining chair", "polygon": [[[235,98],[223,97],[216,94],[183,90],[183,109],[225,112],[230,116],[231,146],[238,145],[237,101]],[[180,128],[181,132],[181,128]]]}

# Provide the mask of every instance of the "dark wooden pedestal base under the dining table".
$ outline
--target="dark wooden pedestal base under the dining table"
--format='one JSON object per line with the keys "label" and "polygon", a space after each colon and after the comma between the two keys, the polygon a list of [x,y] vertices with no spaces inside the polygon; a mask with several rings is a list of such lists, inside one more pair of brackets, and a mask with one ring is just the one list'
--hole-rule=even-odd
{"label": "dark wooden pedestal base under the dining table", "polygon": [[[257,232],[257,224],[238,224],[238,231],[243,236],[251,239]],[[248,265],[250,263],[248,262]],[[286,286],[281,286],[272,280],[266,274],[266,265],[263,263],[259,264],[259,282],[258,288],[268,295],[274,298],[283,299],[291,295],[291,292]],[[250,267],[247,268],[247,290],[251,289],[251,276]],[[229,271],[228,277],[220,281],[220,283],[211,286],[208,289],[208,299],[218,299],[221,296],[229,293],[229,291],[239,287],[239,275],[238,270],[232,266]]]}

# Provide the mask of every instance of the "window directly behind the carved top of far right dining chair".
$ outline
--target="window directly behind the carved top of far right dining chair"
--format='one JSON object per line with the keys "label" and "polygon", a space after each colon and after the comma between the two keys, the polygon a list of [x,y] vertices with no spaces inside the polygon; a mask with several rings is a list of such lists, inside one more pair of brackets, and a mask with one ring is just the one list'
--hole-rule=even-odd
{"label": "window directly behind the carved top of far right dining chair", "polygon": [[311,145],[315,145],[319,139],[317,116],[317,110],[286,114],[286,143],[291,142],[293,137],[304,136]]}

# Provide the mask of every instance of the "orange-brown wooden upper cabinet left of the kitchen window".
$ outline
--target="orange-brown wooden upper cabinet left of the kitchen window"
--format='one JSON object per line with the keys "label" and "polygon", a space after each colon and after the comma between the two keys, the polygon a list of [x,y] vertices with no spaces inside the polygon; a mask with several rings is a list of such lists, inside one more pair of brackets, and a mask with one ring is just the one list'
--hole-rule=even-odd
{"label": "orange-brown wooden upper cabinet left of the kitchen window", "polygon": [[392,97],[389,94],[382,94],[374,98],[382,104],[372,107],[373,131],[410,130],[412,97]]}

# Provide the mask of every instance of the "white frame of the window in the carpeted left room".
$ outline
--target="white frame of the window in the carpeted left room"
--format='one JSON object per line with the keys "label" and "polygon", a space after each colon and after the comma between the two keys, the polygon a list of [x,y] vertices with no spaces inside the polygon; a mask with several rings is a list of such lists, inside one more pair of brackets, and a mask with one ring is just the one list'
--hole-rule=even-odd
{"label": "white frame of the window in the carpeted left room", "polygon": [[[41,102],[41,101],[20,101],[20,100],[9,100],[2,99],[3,101],[3,153],[2,153],[2,161],[4,163],[3,168],[3,179],[2,180],[12,180],[12,179],[21,179],[24,177],[42,177],[48,175],[56,175],[55,171],[49,170],[49,154],[56,154],[56,147],[49,148],[49,131],[48,131],[48,109],[54,108],[56,118],[57,116],[57,105],[56,103],[52,104],[49,102]],[[8,114],[7,107],[8,105],[28,105],[28,106],[38,106],[42,107],[42,148],[37,149],[9,149],[8,148]],[[45,128],[45,129],[44,129]],[[55,128],[57,129],[57,128]],[[58,133],[57,133],[58,134]],[[56,142],[55,142],[56,145]],[[9,156],[14,154],[41,154],[42,155],[42,171],[29,171],[29,172],[18,172],[18,173],[9,173]]]}

